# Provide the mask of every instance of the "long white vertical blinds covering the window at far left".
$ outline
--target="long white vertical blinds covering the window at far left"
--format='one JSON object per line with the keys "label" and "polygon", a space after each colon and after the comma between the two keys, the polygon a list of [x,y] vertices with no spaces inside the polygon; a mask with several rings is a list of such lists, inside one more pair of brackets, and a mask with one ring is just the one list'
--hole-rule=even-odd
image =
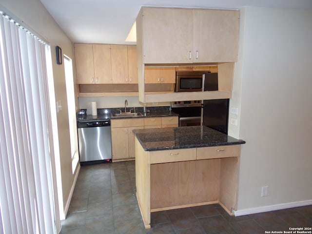
{"label": "long white vertical blinds covering the window at far left", "polygon": [[0,15],[0,233],[55,232],[45,44]]}

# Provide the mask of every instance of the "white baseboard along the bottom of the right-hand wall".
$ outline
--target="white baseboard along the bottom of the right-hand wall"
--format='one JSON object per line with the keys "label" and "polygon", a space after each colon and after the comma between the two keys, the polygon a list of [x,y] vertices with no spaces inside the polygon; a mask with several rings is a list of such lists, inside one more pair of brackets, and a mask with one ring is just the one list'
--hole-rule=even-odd
{"label": "white baseboard along the bottom of the right-hand wall", "polygon": [[294,208],[294,207],[299,207],[299,206],[309,206],[309,205],[312,205],[312,200],[296,201],[296,202],[283,203],[283,204],[277,204],[277,205],[271,205],[271,206],[261,206],[261,207],[237,210],[237,211],[234,211],[234,215],[235,216],[252,215],[256,213],[277,211],[277,210],[282,210],[282,209]]}

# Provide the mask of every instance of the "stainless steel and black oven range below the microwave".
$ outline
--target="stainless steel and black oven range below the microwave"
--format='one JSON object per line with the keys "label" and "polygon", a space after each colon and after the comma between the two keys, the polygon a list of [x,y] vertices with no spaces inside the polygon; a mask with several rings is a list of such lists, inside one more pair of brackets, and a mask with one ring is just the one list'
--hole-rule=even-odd
{"label": "stainless steel and black oven range below the microwave", "polygon": [[179,127],[201,125],[201,103],[195,101],[173,101],[171,109],[179,115]]}

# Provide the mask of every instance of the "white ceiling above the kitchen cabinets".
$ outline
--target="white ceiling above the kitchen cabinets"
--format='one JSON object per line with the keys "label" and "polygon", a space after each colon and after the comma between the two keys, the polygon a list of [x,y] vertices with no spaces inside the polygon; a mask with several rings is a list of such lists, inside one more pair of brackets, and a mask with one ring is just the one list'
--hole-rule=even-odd
{"label": "white ceiling above the kitchen cabinets", "polygon": [[40,0],[77,43],[135,44],[125,39],[141,6],[312,9],[312,0]]}

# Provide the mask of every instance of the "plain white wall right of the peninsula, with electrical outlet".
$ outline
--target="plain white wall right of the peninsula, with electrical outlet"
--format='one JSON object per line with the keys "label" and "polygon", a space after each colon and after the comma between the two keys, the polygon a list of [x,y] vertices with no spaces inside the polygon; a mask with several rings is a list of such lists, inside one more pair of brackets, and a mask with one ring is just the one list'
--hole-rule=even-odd
{"label": "plain white wall right of the peninsula, with electrical outlet", "polygon": [[312,204],[312,11],[247,7],[240,30],[237,214]]}

